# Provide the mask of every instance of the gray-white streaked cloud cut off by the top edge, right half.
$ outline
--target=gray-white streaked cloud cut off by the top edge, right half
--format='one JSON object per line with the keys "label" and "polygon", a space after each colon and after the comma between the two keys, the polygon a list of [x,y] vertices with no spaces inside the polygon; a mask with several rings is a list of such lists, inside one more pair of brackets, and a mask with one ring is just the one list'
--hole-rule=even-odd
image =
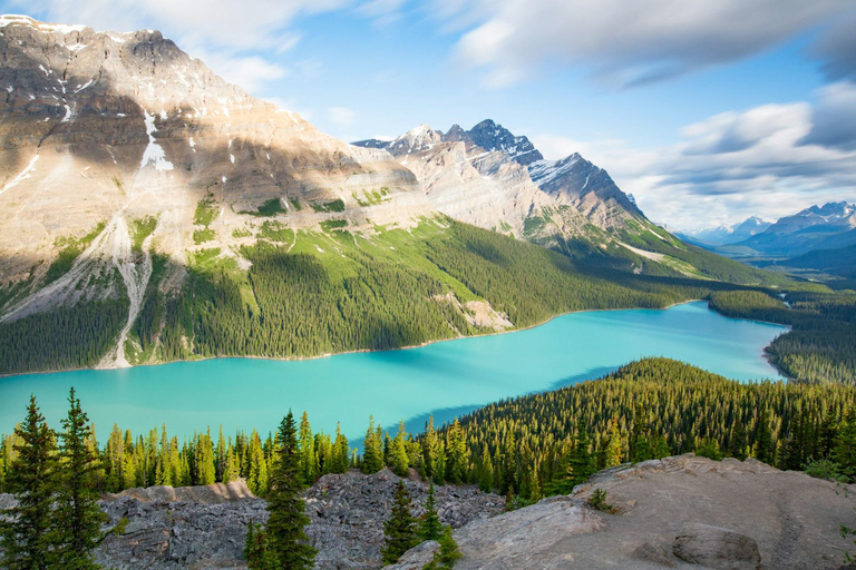
{"label": "gray-white streaked cloud cut off by the top edge, right half", "polygon": [[[545,61],[580,65],[619,86],[654,81],[758,53],[852,6],[847,0],[435,1],[447,20],[470,28],[477,22],[460,38],[457,56],[483,68],[486,82],[498,87]],[[850,32],[842,32],[838,43],[852,42]],[[844,49],[836,43],[827,51]]]}

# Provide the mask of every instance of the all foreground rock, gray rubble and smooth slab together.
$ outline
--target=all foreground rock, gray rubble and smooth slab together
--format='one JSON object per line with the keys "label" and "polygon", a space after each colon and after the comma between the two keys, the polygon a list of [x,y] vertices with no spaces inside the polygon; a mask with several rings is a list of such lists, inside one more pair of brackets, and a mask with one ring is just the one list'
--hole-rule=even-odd
{"label": "all foreground rock, gray rubble and smooth slab together", "polygon": [[[307,492],[317,568],[380,568],[382,522],[398,480],[389,471],[349,472]],[[406,485],[419,514],[427,488]],[[587,503],[595,489],[614,512]],[[0,495],[0,508],[10,502]],[[856,487],[753,460],[668,458],[603,471],[571,495],[517,511],[504,513],[504,502],[471,487],[437,488],[440,518],[464,554],[456,569],[833,570],[845,552],[856,552],[853,538],[839,533],[842,523],[856,525]],[[134,489],[101,505],[114,522],[129,521],[97,552],[117,570],[245,568],[247,522],[268,515],[242,482]],[[419,570],[436,549],[426,542],[388,570]]]}

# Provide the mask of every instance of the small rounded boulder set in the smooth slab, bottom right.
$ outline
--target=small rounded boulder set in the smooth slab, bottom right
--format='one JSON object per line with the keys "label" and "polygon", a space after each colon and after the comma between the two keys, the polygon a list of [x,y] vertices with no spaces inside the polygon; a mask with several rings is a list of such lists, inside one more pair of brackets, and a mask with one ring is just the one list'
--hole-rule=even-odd
{"label": "small rounded boulder set in the smooth slab, bottom right", "polygon": [[674,556],[717,570],[759,570],[761,553],[755,539],[709,524],[692,524],[674,538]]}

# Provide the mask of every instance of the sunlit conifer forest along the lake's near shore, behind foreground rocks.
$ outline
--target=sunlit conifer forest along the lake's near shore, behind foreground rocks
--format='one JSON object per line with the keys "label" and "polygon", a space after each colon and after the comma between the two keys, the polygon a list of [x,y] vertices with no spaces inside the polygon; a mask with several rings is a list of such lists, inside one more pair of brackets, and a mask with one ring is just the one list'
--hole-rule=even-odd
{"label": "sunlit conifer forest along the lake's near shore, behind foreground rocks", "polygon": [[[711,459],[752,456],[780,469],[856,481],[856,389],[843,384],[741,383],[668,358],[646,358],[613,374],[561,390],[484,406],[450,425],[431,422],[420,434],[392,433],[373,419],[362,452],[339,431],[295,422],[298,476],[311,484],[359,468],[374,473],[409,469],[438,483],[474,483],[521,501],[568,493],[595,471],[694,452]],[[0,491],[21,436],[0,442]],[[118,425],[98,441],[93,475],[99,491],[230,482],[243,478],[259,495],[271,489],[276,435],[257,431],[189,440],[166,426],[133,434]],[[10,487],[11,485],[11,487]]]}

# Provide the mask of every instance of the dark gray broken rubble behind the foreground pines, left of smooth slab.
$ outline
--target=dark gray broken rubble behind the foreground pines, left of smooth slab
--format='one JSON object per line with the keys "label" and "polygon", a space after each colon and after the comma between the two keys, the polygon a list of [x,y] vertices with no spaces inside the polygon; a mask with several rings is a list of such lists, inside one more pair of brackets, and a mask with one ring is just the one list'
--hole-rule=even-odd
{"label": "dark gray broken rubble behind the foreground pines, left of smooth slab", "polygon": [[[381,567],[383,521],[398,481],[387,470],[368,476],[352,471],[325,475],[307,491],[307,534],[319,550],[317,569]],[[405,484],[414,514],[421,514],[427,485],[411,480]],[[505,507],[504,498],[473,487],[438,487],[436,497],[440,520],[453,528]],[[0,508],[12,503],[11,495],[0,494]],[[268,520],[266,502],[253,497],[243,481],[130,489],[105,495],[100,504],[113,524],[128,519],[125,534],[108,538],[96,552],[99,563],[116,570],[246,568],[242,560],[246,527]]]}

